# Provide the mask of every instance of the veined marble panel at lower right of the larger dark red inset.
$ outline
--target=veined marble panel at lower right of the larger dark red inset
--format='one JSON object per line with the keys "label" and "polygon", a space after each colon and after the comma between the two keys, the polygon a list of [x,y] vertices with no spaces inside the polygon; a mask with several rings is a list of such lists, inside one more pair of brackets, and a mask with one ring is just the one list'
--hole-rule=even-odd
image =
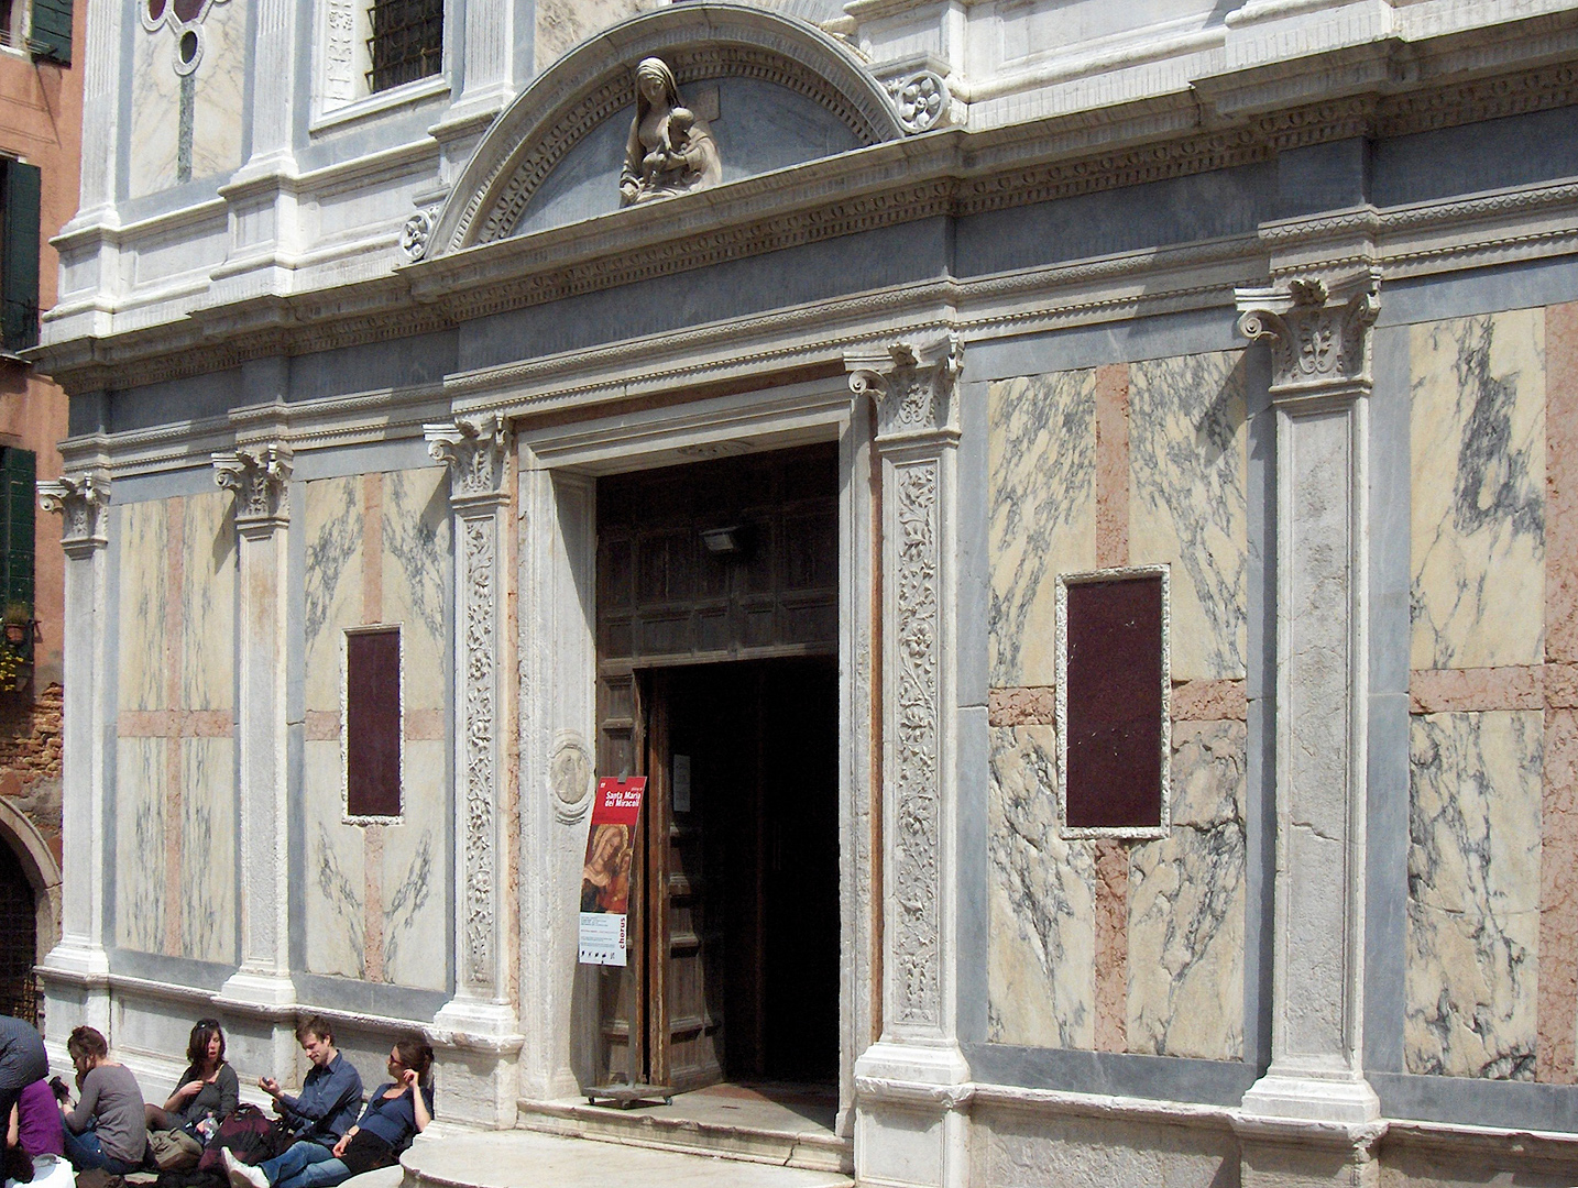
{"label": "veined marble panel at lower right of the larger dark red inset", "polygon": [[1172,830],[1128,863],[1128,1049],[1243,1057],[1243,723],[1172,724]]}

